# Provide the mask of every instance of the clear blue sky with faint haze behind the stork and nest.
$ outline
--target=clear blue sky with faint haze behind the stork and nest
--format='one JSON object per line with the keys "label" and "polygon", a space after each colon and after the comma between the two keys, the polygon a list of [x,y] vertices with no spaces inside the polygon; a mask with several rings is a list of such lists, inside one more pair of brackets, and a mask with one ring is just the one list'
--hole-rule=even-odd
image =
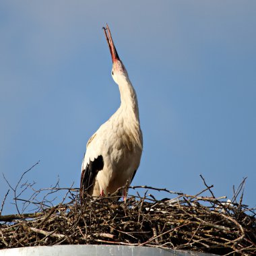
{"label": "clear blue sky with faint haze behind the stork and nest", "polygon": [[79,186],[86,142],[120,104],[107,22],[139,100],[133,185],[195,194],[202,174],[232,197],[248,177],[255,207],[255,13],[255,1],[1,1],[1,172],[15,185],[40,160],[36,188]]}

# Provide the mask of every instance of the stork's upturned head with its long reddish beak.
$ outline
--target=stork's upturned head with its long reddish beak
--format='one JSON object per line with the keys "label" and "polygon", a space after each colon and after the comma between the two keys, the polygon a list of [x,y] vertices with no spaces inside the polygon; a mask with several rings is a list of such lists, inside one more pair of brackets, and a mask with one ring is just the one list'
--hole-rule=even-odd
{"label": "stork's upturned head with its long reddish beak", "polygon": [[121,84],[121,82],[123,82],[123,80],[129,81],[128,73],[127,73],[125,66],[123,65],[121,59],[119,59],[117,49],[115,48],[115,44],[113,42],[110,30],[108,28],[108,24],[106,24],[106,28],[103,27],[103,29],[104,29],[104,33],[106,36],[106,42],[108,42],[108,47],[109,47],[110,54],[112,57],[112,62],[113,62],[111,75],[117,84]]}

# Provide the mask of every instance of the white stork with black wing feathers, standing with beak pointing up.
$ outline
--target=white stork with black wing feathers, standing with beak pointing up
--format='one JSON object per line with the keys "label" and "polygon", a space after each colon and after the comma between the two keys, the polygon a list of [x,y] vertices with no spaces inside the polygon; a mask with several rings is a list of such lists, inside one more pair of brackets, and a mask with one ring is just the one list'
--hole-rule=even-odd
{"label": "white stork with black wing feathers, standing with beak pointing up", "polygon": [[[115,114],[90,137],[82,163],[80,196],[115,193],[130,185],[142,153],[137,96],[110,34],[104,29],[113,61],[112,77],[119,86],[121,105]],[[127,189],[121,189],[124,199]],[[119,194],[120,195],[120,194]]]}

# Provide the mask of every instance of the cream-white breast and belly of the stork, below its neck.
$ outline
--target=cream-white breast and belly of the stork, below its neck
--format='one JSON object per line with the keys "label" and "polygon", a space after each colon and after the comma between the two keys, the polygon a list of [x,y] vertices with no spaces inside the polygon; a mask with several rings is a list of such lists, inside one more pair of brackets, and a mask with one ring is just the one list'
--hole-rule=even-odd
{"label": "cream-white breast and belly of the stork, below its neck", "polygon": [[131,182],[139,167],[142,134],[139,121],[117,111],[102,127],[102,157],[104,168],[97,174],[100,189],[113,193]]}

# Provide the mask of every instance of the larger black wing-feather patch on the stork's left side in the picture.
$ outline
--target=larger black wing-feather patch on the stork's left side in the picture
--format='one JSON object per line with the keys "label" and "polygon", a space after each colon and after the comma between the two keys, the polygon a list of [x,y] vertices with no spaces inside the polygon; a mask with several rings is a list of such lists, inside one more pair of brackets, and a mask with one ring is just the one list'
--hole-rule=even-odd
{"label": "larger black wing-feather patch on the stork's left side in the picture", "polygon": [[82,170],[81,180],[80,180],[80,198],[84,197],[84,192],[88,192],[94,185],[95,177],[97,173],[103,169],[104,161],[102,156],[98,156],[93,161],[86,164],[86,168]]}

